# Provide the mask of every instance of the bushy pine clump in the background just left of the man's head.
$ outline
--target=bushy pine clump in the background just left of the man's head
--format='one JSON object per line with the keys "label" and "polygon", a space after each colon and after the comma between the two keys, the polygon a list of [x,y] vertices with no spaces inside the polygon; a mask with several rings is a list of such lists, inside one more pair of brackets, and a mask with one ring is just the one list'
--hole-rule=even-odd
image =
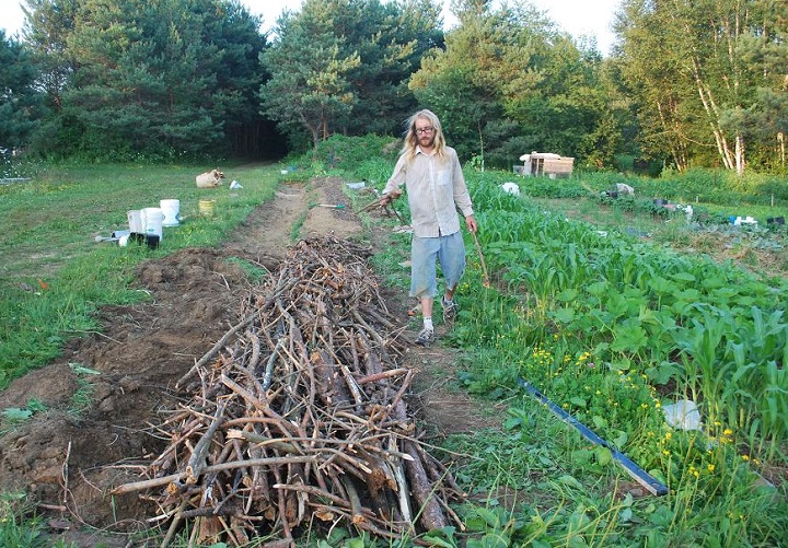
{"label": "bushy pine clump in the background just left of the man's head", "polygon": [[265,113],[298,140],[334,133],[387,135],[416,107],[410,74],[441,47],[433,2],[306,0],[286,13],[278,39],[262,56],[271,73],[260,101]]}

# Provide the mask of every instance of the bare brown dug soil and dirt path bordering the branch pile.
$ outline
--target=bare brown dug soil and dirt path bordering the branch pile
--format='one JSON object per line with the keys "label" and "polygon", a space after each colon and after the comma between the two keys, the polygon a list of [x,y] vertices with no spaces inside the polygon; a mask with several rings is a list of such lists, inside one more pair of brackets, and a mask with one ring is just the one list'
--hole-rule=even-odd
{"label": "bare brown dug soil and dirt path bordering the branch pile", "polygon": [[[245,265],[274,271],[299,237],[332,235],[372,250],[391,228],[363,229],[344,180],[321,178],[283,185],[216,248],[186,248],[138,267],[136,285],[149,295],[101,311],[101,333],[70,340],[61,358],[14,381],[0,393],[0,409],[43,411],[15,423],[0,440],[3,492],[26,492],[47,517],[50,534],[77,546],[130,546],[131,534],[155,525],[155,506],[139,493],[111,495],[140,478],[161,451],[158,425],[183,405],[176,383],[239,320],[241,295],[255,283]],[[381,283],[386,308],[408,326],[406,295]],[[412,333],[413,331],[413,333]],[[408,335],[410,334],[410,335]],[[428,436],[439,438],[499,421],[462,392],[451,389],[451,349],[408,347],[402,366],[416,370],[409,408]],[[80,404],[81,401],[81,404]],[[78,409],[79,408],[79,409]]]}

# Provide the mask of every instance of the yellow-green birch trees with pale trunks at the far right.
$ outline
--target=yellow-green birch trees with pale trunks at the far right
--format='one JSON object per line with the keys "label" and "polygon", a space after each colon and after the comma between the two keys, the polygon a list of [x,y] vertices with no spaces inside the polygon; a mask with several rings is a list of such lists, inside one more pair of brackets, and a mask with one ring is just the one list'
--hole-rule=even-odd
{"label": "yellow-green birch trees with pale trunks at the far right", "polygon": [[785,9],[769,0],[624,2],[626,77],[640,93],[649,139],[669,139],[677,168],[692,159],[744,173],[765,102],[781,96],[766,61],[785,50]]}

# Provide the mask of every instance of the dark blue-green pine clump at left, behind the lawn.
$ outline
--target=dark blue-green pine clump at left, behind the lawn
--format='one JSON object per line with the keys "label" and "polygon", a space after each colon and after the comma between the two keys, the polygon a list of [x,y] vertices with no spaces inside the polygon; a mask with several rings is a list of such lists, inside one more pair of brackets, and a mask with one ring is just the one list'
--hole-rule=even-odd
{"label": "dark blue-green pine clump at left, behind the lawn", "polygon": [[[44,154],[239,152],[259,135],[259,21],[221,0],[28,0],[25,44],[49,115]],[[254,147],[252,147],[254,148]]]}

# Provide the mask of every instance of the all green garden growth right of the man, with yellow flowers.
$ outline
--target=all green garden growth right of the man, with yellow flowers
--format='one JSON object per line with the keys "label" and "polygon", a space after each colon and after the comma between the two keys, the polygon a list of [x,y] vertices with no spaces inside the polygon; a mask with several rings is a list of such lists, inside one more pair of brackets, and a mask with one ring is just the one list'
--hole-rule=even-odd
{"label": "all green garden growth right of the man, with yellow flowers", "polygon": [[[465,389],[507,409],[502,432],[448,441],[472,455],[454,468],[477,497],[460,510],[468,546],[770,546],[788,538],[788,486],[760,477],[787,465],[788,384],[778,364],[788,326],[776,298],[786,283],[692,249],[698,234],[718,248],[733,236],[755,248],[781,234],[740,231],[715,215],[734,201],[731,187],[714,194],[723,203],[697,208],[710,221],[695,225],[656,210],[650,197],[598,199],[615,178],[518,180],[530,195],[518,199],[496,188],[511,174],[466,176],[497,289],[480,287],[466,240],[461,313],[442,343],[462,349],[457,380]],[[673,179],[673,195],[693,191],[703,178],[693,177],[685,191]],[[745,214],[788,212],[784,202],[738,196],[763,208]],[[407,242],[392,236],[389,244],[375,268],[406,287],[396,264]],[[610,452],[523,398],[518,376],[664,482],[669,494],[637,498],[622,488],[615,497],[617,485],[631,489],[631,478]],[[686,396],[702,406],[702,432],[665,423],[662,405]],[[455,546],[456,538],[443,540]]]}

